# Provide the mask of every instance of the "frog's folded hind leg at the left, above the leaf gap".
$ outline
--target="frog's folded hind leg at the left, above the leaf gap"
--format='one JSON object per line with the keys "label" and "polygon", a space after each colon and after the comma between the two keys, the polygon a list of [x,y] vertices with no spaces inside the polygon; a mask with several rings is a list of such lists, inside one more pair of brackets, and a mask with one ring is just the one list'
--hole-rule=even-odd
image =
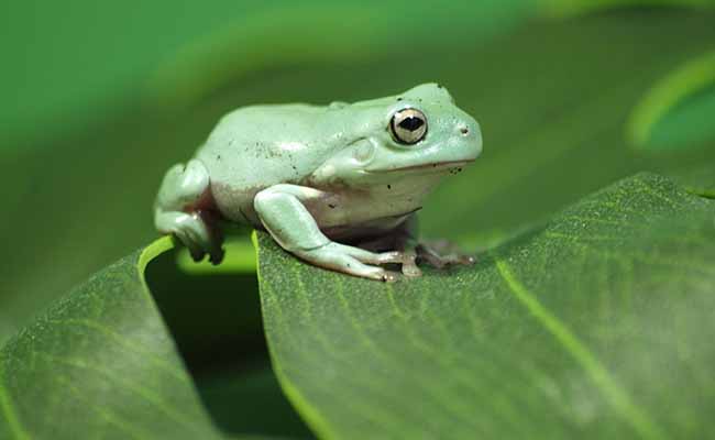
{"label": "frog's folded hind leg at the left, above the leaf gap", "polygon": [[154,224],[160,232],[174,234],[194,260],[199,261],[208,253],[211,263],[221,262],[222,239],[209,174],[200,161],[175,165],[166,173],[154,204]]}

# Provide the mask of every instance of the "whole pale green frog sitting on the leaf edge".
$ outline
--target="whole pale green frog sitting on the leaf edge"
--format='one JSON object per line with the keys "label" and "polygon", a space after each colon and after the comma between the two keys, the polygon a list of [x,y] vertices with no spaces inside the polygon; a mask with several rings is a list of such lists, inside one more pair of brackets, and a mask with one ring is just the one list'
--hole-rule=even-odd
{"label": "whole pale green frog sitting on the leaf edge", "polygon": [[352,103],[242,107],[168,169],[154,223],[196,261],[221,262],[222,224],[232,222],[322,268],[418,277],[421,262],[474,263],[450,243],[420,241],[417,211],[481,153],[480,124],[437,82]]}

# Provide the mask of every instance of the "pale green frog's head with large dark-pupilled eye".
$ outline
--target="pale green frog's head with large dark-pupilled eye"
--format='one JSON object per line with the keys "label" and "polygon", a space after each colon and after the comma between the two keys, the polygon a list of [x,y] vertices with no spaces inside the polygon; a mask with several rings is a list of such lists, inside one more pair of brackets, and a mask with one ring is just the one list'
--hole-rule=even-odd
{"label": "pale green frog's head with large dark-pupilled eye", "polygon": [[[479,123],[437,84],[331,106],[328,112],[345,147],[316,170],[318,179],[360,184],[439,176],[473,162],[482,152]],[[330,176],[323,174],[326,169]]]}

